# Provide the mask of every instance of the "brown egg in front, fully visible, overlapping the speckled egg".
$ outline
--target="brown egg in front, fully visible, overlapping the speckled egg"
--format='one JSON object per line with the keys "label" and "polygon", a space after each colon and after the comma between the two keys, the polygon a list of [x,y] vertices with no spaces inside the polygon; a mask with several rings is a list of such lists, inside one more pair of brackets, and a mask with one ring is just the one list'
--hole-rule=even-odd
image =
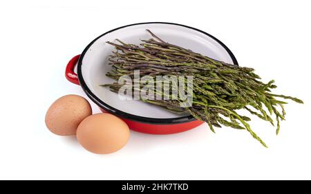
{"label": "brown egg in front, fully visible, overlapping the speckled egg", "polygon": [[77,140],[93,153],[113,153],[129,140],[129,127],[112,114],[93,114],[85,118],[77,129]]}

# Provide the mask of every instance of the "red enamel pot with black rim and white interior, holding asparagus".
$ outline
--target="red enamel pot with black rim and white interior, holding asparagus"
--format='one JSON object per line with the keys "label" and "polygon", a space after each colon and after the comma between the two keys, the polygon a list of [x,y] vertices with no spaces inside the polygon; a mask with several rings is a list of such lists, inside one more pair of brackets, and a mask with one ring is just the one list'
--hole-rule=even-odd
{"label": "red enamel pot with black rim and white interior, holding asparagus", "polygon": [[[186,47],[211,58],[238,65],[234,54],[214,36],[186,25],[164,22],[135,23],[110,30],[89,43],[82,54],[73,57],[66,67],[66,78],[81,85],[86,95],[102,111],[122,118],[130,129],[142,133],[170,134],[198,127],[203,122],[189,114],[173,114],[161,107],[143,103],[140,100],[120,100],[117,94],[104,83],[113,83],[105,76],[111,70],[108,56],[114,50],[106,41],[120,39],[126,43],[139,44],[140,39],[149,39],[146,29],[157,34],[164,41]],[[77,74],[74,72],[77,65]]]}

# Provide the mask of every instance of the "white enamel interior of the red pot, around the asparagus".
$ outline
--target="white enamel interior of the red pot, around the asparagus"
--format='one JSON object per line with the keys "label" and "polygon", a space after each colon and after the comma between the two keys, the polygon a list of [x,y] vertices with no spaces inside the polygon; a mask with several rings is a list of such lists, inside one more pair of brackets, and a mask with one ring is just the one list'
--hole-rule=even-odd
{"label": "white enamel interior of the red pot, around the asparagus", "polygon": [[125,43],[139,44],[140,39],[150,39],[151,35],[146,31],[151,30],[162,40],[172,44],[180,45],[211,58],[233,63],[225,48],[214,39],[196,30],[185,28],[180,25],[163,23],[149,23],[132,25],[126,28],[115,30],[97,39],[88,48],[82,60],[82,76],[89,89],[104,103],[136,116],[149,118],[176,118],[178,114],[173,114],[161,107],[142,103],[140,100],[120,100],[117,94],[108,88],[101,87],[100,84],[113,83],[113,79],[106,77],[111,65],[108,65],[108,56],[113,51],[113,46],[106,41],[115,42],[120,39]]}

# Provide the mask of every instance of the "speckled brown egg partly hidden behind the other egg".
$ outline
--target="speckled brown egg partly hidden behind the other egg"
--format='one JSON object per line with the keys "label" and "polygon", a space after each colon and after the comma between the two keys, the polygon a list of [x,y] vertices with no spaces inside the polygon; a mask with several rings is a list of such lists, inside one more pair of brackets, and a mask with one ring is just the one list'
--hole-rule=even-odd
{"label": "speckled brown egg partly hidden behind the other egg", "polygon": [[46,113],[46,127],[59,136],[72,136],[77,127],[92,114],[88,100],[82,96],[66,95],[58,98]]}

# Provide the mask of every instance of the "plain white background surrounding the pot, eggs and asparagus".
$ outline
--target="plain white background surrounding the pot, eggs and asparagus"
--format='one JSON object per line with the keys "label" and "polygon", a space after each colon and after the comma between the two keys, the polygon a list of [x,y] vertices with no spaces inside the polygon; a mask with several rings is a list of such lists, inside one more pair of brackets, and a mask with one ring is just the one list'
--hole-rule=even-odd
{"label": "plain white background surrounding the pot, eggs and asparagus", "polygon": [[[1,1],[1,179],[310,179],[310,3],[308,1]],[[10,2],[10,3],[8,3]],[[50,133],[46,110],[66,94],[85,96],[64,77],[68,60],[104,32],[167,21],[223,41],[290,102],[279,136],[261,120],[246,131],[202,125],[169,136],[131,132],[110,155]],[[90,101],[91,102],[91,101]],[[92,103],[93,112],[99,109]],[[134,108],[134,107],[133,107]]]}

